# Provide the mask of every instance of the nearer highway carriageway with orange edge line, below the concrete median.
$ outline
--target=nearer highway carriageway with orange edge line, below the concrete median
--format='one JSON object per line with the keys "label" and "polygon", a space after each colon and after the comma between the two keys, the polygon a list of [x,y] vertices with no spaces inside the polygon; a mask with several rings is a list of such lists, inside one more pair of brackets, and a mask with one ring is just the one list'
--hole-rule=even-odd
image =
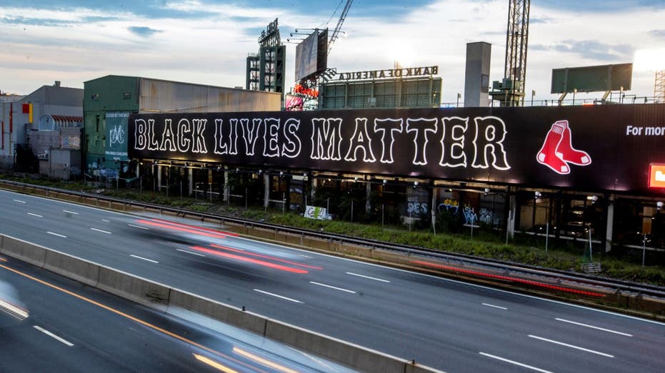
{"label": "nearer highway carriageway with orange edge line, below the concrete median", "polygon": [[[0,285],[0,300],[28,310],[19,317],[0,309],[0,372],[351,372],[249,332],[215,322],[201,327],[8,257],[0,256]],[[16,290],[13,299],[6,299],[9,286]]]}

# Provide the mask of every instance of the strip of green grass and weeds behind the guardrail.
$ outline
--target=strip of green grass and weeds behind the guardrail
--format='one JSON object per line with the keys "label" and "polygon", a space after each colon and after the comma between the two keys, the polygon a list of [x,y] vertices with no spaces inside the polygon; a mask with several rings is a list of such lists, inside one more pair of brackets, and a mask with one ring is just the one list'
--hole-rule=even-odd
{"label": "strip of green grass and weeds behind the guardrail", "polygon": [[[234,216],[250,220],[262,221],[295,228],[316,230],[319,232],[351,235],[396,244],[426,247],[444,252],[456,252],[476,257],[502,260],[526,265],[582,272],[581,266],[590,261],[588,242],[584,240],[554,240],[550,238],[547,250],[545,239],[534,235],[516,235],[506,244],[506,237],[494,230],[482,227],[473,232],[469,228],[448,227],[446,221],[439,221],[435,233],[430,226],[409,228],[404,225],[377,225],[376,223],[359,223],[344,220],[313,220],[301,213],[281,210],[266,210],[256,206],[245,208],[244,205],[227,205],[219,201],[202,198],[167,196],[165,193],[123,188],[99,188],[83,182],[64,182],[49,180],[36,175],[0,174],[1,180],[13,180],[20,183],[44,185],[52,188],[75,190],[79,192],[106,195],[114,198],[154,203],[201,213]],[[450,233],[454,230],[455,233]],[[646,266],[641,265],[641,251],[622,251],[615,249],[609,253],[594,250],[593,261],[600,262],[601,277],[609,277],[632,282],[643,282],[665,287],[665,266],[661,253],[647,252]]]}

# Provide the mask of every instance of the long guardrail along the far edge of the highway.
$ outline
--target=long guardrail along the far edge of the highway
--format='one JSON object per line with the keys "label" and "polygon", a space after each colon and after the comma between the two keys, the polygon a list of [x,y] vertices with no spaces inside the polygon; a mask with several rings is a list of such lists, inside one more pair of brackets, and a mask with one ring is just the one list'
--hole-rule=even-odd
{"label": "long guardrail along the far edge of the highway", "polygon": [[[589,287],[597,287],[606,290],[606,292],[614,292],[619,295],[631,295],[637,297],[654,297],[665,299],[665,289],[654,285],[639,284],[636,282],[629,282],[623,280],[614,280],[606,277],[597,277],[594,275],[585,275],[576,272],[569,272],[564,270],[552,270],[544,267],[537,267],[532,265],[523,265],[514,262],[504,262],[501,260],[480,259],[471,255],[457,254],[451,252],[440,252],[438,250],[426,249],[424,247],[416,247],[409,245],[396,245],[388,242],[381,242],[378,240],[369,240],[358,237],[349,237],[339,235],[336,233],[324,233],[314,230],[304,230],[301,228],[292,228],[284,225],[275,225],[254,220],[247,220],[242,218],[234,218],[223,215],[214,215],[209,213],[199,213],[192,210],[184,210],[180,208],[171,208],[162,205],[154,205],[151,203],[143,203],[133,200],[123,200],[120,198],[113,198],[104,195],[97,195],[95,193],[78,192],[73,190],[63,190],[59,188],[45,187],[41,185],[31,185],[26,183],[19,183],[11,180],[0,180],[0,183],[14,185],[24,193],[27,189],[44,190],[45,195],[49,193],[63,193],[67,195],[76,195],[83,200],[93,198],[96,200],[116,203],[124,205],[125,207],[131,206],[134,208],[143,208],[144,210],[155,210],[159,213],[171,213],[176,216],[196,217],[201,220],[214,220],[220,223],[229,223],[233,225],[240,225],[249,228],[259,228],[261,230],[274,231],[274,233],[286,233],[289,235],[296,235],[300,237],[312,237],[318,240],[326,240],[329,242],[338,242],[339,244],[355,245],[361,247],[369,247],[371,250],[384,250],[388,252],[399,252],[401,254],[429,258],[433,260],[454,263],[461,267],[481,267],[504,275],[526,276],[529,278],[539,277],[551,283],[571,282]],[[23,190],[20,190],[23,188]],[[16,189],[15,189],[16,190]],[[97,204],[99,205],[99,203]]]}

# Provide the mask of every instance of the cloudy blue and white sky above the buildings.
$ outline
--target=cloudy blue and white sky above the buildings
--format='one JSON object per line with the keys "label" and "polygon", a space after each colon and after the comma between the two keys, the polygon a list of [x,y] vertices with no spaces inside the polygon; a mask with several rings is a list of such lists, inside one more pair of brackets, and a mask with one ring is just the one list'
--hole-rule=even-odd
{"label": "cloudy blue and white sky above the buildings", "polygon": [[[297,39],[305,37],[290,34],[334,29],[345,3],[0,0],[0,91],[28,94],[54,81],[83,88],[111,74],[244,87],[246,57],[274,19],[286,45],[288,91]],[[464,93],[467,43],[491,44],[490,81],[504,77],[508,9],[508,0],[354,0],[328,66],[439,66],[441,101],[455,103]],[[665,0],[535,0],[529,18],[526,101],[532,91],[536,101],[559,97],[550,93],[553,68],[630,62],[626,94],[654,96],[655,71],[665,69]]]}

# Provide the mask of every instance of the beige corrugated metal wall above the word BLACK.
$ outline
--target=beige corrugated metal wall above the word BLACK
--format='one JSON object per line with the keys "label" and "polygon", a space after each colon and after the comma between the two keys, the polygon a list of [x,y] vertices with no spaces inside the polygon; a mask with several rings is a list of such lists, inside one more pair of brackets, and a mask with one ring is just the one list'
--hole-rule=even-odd
{"label": "beige corrugated metal wall above the word BLACK", "polygon": [[141,78],[140,113],[279,111],[281,93]]}

